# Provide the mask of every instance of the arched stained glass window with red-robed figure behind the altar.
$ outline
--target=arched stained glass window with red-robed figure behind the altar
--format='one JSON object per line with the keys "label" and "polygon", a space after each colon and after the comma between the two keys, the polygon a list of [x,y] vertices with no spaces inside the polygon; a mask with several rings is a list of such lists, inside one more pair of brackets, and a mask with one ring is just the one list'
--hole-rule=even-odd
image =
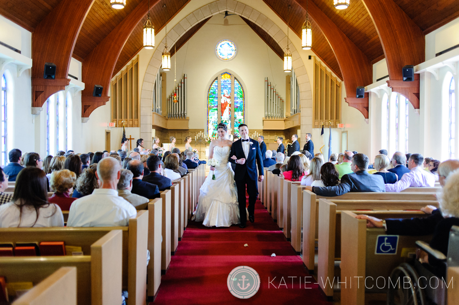
{"label": "arched stained glass window with red-robed figure behind the altar", "polygon": [[216,127],[220,122],[239,136],[237,128],[244,123],[245,116],[245,93],[240,81],[230,73],[222,73],[209,87],[207,99],[208,136],[217,137]]}

